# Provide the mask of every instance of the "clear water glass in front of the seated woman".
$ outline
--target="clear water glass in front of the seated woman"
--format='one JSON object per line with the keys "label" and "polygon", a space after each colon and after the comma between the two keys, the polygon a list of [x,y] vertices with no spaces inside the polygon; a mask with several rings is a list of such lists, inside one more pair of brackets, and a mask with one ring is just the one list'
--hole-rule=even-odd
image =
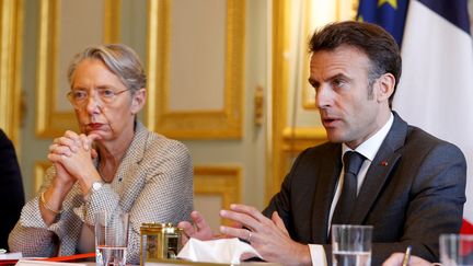
{"label": "clear water glass in front of the seated woman", "polygon": [[97,266],[125,266],[128,213],[95,213],[95,262]]}

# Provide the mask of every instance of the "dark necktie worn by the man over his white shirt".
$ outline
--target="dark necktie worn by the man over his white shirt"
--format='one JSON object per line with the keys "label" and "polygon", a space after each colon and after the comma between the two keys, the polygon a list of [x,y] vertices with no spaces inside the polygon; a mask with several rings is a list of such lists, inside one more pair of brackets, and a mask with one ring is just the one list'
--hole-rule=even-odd
{"label": "dark necktie worn by the man over his white shirt", "polygon": [[356,151],[344,154],[344,184],[341,197],[335,207],[332,224],[347,224],[357,198],[357,175],[365,161],[365,157]]}

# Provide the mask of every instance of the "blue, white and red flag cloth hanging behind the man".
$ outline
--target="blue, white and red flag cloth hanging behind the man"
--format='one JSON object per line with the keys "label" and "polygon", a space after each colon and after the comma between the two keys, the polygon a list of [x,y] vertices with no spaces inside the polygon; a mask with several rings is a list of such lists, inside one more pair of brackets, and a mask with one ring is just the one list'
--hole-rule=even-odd
{"label": "blue, white and red flag cloth hanging behind the man", "polygon": [[[369,5],[377,9],[376,16],[369,15]],[[465,154],[461,233],[473,234],[473,42],[468,0],[361,0],[358,20],[380,24],[401,46],[403,73],[393,109]]]}

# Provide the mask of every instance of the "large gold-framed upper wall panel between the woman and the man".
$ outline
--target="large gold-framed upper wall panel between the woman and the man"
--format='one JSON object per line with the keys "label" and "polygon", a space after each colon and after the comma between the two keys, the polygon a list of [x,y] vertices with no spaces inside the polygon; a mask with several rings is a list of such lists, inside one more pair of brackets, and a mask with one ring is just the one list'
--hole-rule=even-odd
{"label": "large gold-framed upper wall panel between the woman and the man", "polygon": [[196,15],[180,1],[149,0],[145,120],[151,130],[180,139],[241,138],[245,1],[218,3],[188,3]]}

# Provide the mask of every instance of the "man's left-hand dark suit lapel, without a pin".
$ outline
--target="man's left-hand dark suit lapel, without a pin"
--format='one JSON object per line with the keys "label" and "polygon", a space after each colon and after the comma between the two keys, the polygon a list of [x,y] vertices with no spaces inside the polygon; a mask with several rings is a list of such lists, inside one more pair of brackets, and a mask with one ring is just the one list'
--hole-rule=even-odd
{"label": "man's left-hand dark suit lapel, without a pin", "polygon": [[342,146],[334,144],[334,150],[322,159],[318,173],[316,190],[312,206],[312,240],[314,243],[327,243],[328,213],[335,186],[342,171]]}

